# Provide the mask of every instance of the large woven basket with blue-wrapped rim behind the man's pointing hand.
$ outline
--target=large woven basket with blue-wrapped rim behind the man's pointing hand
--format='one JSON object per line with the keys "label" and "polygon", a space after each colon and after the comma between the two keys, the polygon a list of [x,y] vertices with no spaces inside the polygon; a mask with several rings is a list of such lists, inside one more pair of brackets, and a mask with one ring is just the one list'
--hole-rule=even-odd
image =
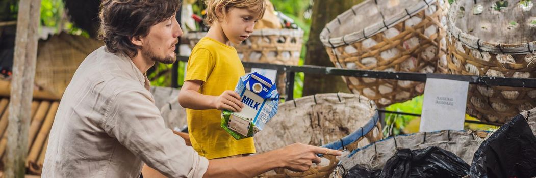
{"label": "large woven basket with blue-wrapped rim behind the man's pointing hand", "polygon": [[[255,148],[258,153],[263,153],[300,142],[352,150],[381,137],[374,102],[354,94],[317,94],[280,104],[276,117],[255,135]],[[311,167],[307,172],[276,169],[263,176],[326,177],[337,162],[334,157],[326,157],[320,165]]]}

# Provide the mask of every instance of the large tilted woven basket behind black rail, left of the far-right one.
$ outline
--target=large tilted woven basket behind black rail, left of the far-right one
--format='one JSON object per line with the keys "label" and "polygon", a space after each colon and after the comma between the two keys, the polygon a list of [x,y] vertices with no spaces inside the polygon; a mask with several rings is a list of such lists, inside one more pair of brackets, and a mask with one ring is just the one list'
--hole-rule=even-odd
{"label": "large tilted woven basket behind black rail, left of the far-right one", "polygon": [[[336,67],[418,73],[446,72],[443,0],[367,0],[340,14],[320,39]],[[355,94],[379,107],[422,94],[424,83],[344,77]]]}

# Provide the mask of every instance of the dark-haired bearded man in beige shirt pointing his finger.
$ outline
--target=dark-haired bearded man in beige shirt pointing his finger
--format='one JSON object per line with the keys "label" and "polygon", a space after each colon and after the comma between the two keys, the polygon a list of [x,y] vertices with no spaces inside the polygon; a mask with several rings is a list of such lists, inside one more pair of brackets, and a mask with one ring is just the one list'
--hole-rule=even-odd
{"label": "dark-haired bearded man in beige shirt pointing his finger", "polygon": [[317,153],[293,144],[249,157],[207,160],[165,128],[145,76],[175,61],[182,34],[177,0],[103,0],[106,46],[78,67],[59,104],[43,177],[139,177],[144,162],[168,177],[252,177],[273,168],[306,171]]}

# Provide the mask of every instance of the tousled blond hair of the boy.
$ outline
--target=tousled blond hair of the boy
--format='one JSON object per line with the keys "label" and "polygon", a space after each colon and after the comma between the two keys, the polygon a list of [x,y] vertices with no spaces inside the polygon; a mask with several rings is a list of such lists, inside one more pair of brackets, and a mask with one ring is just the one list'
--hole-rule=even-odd
{"label": "tousled blond hair of the boy", "polygon": [[[258,20],[264,16],[266,9],[265,0],[206,0],[206,18],[205,25],[211,26],[214,21],[226,20],[227,12],[233,7],[239,9],[249,9],[251,11],[259,12]],[[219,19],[216,12],[221,11],[223,19]]]}

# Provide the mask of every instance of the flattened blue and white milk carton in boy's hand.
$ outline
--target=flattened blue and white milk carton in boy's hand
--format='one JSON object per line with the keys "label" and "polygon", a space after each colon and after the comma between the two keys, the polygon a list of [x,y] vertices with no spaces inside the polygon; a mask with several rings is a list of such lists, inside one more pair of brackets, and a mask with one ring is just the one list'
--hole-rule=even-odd
{"label": "flattened blue and white milk carton in boy's hand", "polygon": [[270,79],[256,72],[242,76],[235,91],[244,107],[237,113],[224,110],[221,127],[240,140],[254,136],[277,114],[279,93]]}

